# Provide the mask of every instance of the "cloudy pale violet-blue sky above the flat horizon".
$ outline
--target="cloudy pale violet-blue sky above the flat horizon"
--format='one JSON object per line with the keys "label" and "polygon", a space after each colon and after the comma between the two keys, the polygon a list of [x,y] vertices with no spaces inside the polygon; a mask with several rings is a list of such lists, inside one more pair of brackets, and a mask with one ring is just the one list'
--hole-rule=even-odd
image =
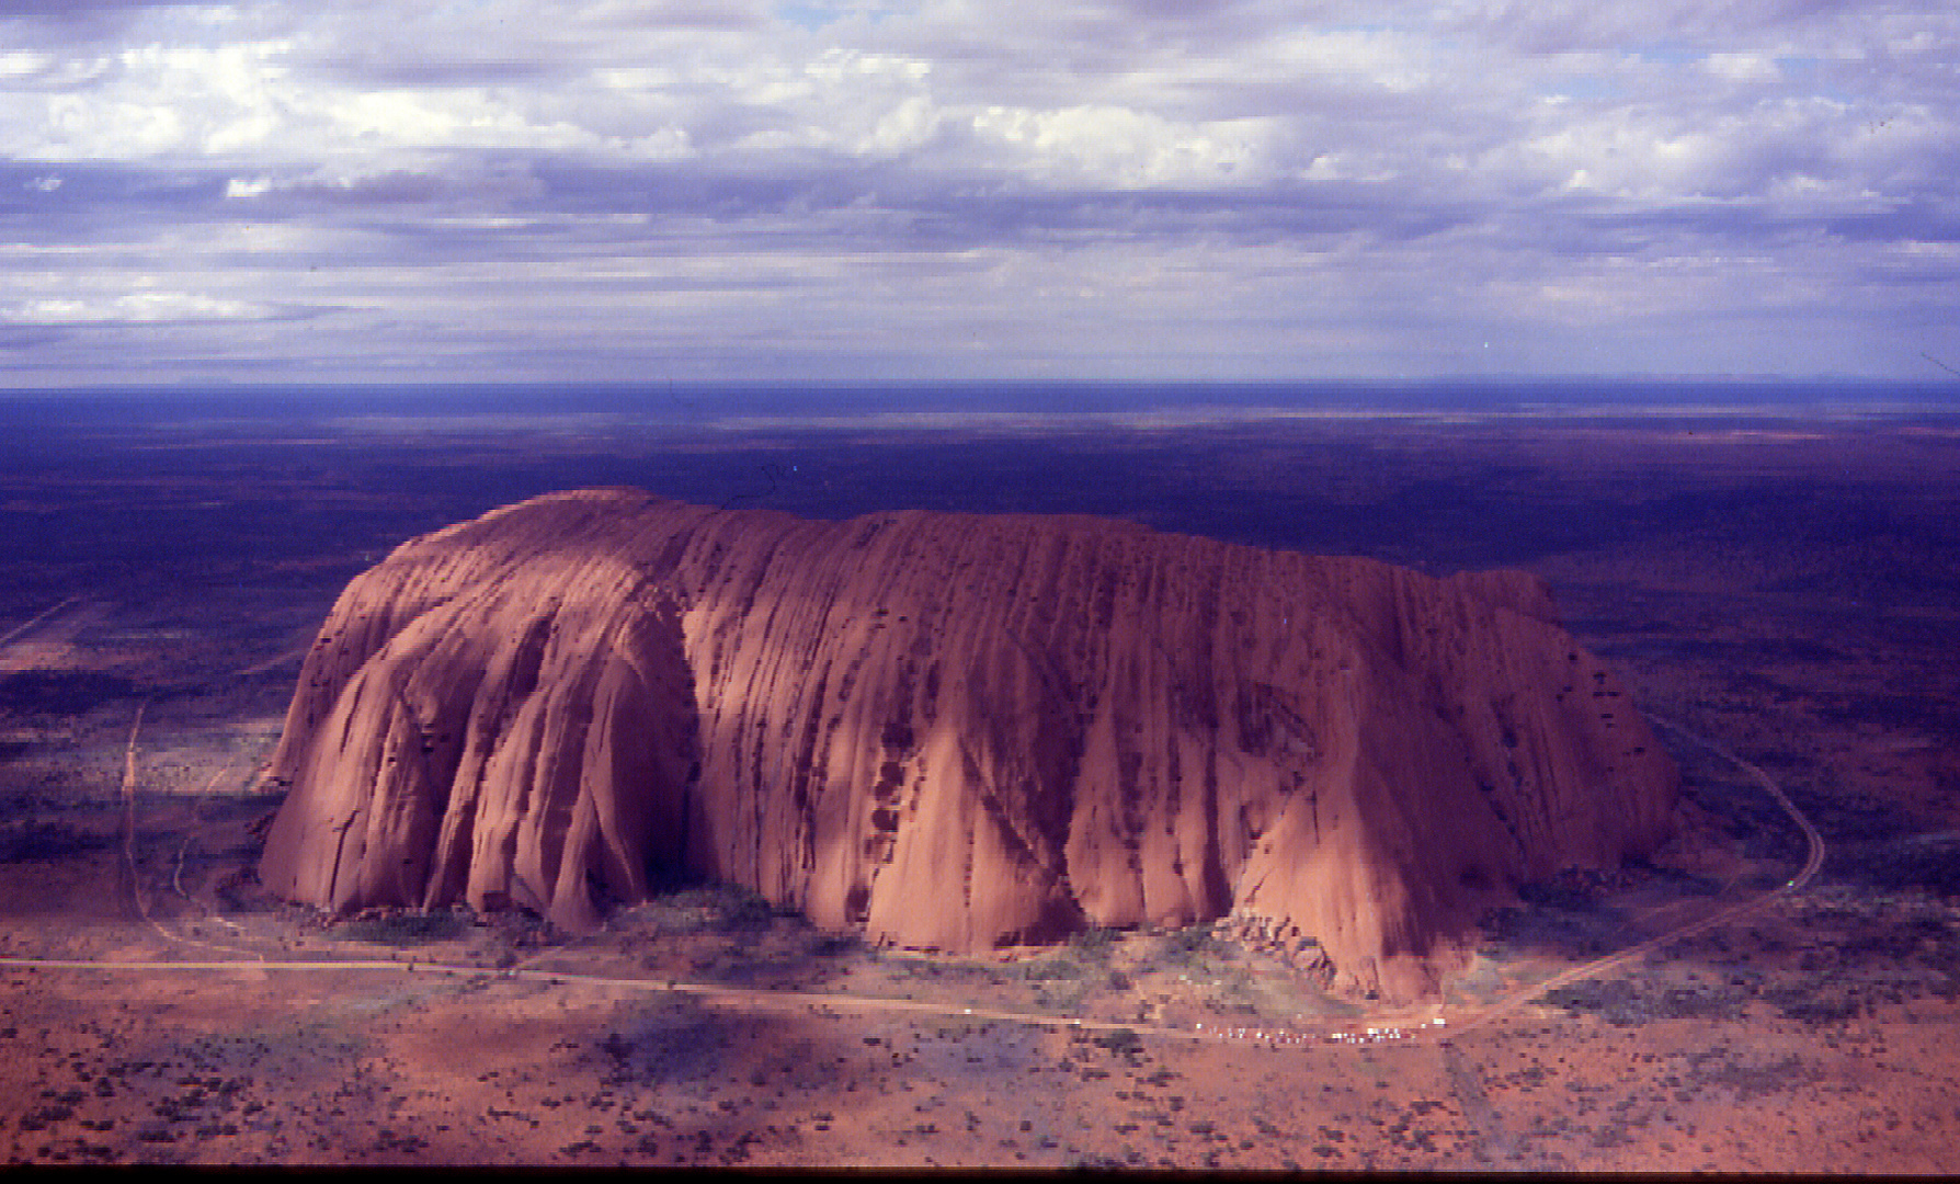
{"label": "cloudy pale violet-blue sky above the flat horizon", "polygon": [[1940,365],[1952,0],[0,0],[0,386]]}

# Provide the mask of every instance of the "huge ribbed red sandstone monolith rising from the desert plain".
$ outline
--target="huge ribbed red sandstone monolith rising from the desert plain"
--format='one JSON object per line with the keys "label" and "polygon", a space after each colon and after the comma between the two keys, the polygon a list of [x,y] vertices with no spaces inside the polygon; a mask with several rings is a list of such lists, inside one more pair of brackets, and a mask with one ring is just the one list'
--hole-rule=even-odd
{"label": "huge ribbed red sandstone monolith rising from the desert plain", "polygon": [[943,951],[1239,910],[1413,996],[1494,894],[1668,829],[1672,763],[1550,617],[1523,572],[1109,519],[553,494],[347,588],[261,874],[586,929],[674,870]]}

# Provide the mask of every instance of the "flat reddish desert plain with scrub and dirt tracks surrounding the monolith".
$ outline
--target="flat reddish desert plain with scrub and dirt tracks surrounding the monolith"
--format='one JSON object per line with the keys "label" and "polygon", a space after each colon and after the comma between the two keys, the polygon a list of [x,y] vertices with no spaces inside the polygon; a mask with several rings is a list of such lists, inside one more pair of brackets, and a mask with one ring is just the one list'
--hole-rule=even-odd
{"label": "flat reddish desert plain with scrub and dirt tracks surrounding the monolith", "polygon": [[[1960,419],[6,437],[8,1162],[1960,1168]],[[1396,1008],[1229,921],[953,959],[713,884],[588,937],[269,898],[259,774],[345,582],[592,484],[1535,570],[1680,761],[1678,835],[1523,886]]]}

